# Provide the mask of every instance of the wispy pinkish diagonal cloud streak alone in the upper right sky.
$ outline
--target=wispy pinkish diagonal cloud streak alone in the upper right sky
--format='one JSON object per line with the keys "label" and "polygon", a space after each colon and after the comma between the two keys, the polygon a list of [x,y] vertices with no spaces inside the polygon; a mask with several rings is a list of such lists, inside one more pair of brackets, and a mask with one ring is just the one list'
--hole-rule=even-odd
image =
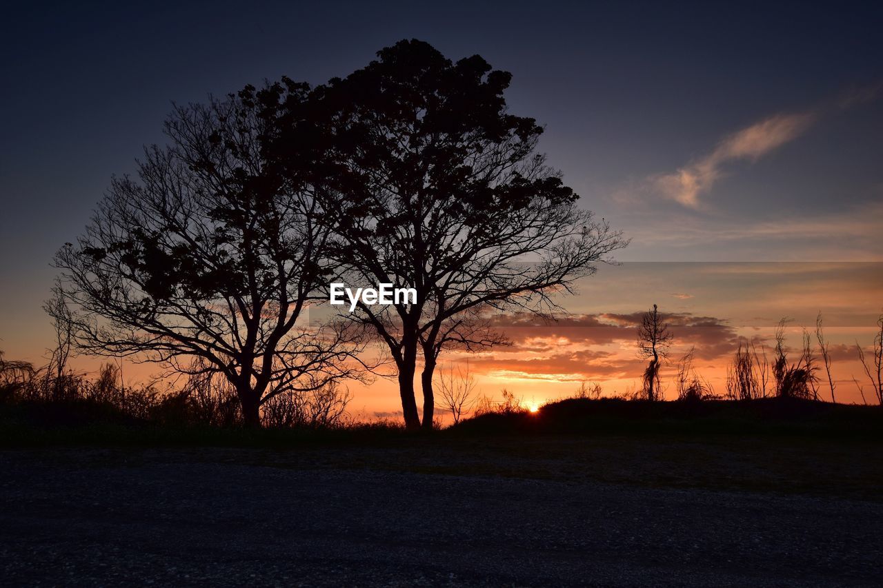
{"label": "wispy pinkish diagonal cloud streak alone in the upper right sky", "polygon": [[812,112],[781,114],[751,124],[721,140],[714,150],[671,174],[652,178],[653,186],[685,207],[697,208],[699,196],[712,189],[730,162],[755,162],[789,143],[815,122]]}

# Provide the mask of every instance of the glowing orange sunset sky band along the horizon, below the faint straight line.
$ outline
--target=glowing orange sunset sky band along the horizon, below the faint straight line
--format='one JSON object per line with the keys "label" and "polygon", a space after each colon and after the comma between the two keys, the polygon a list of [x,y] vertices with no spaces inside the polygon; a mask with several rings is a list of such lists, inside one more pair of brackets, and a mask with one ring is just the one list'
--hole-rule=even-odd
{"label": "glowing orange sunset sky band along the horizon, below the faint straight line", "polygon": [[[476,353],[446,350],[438,370],[464,366],[474,378],[472,400],[502,401],[503,389],[532,413],[540,404],[574,396],[585,382],[598,396],[631,396],[641,386],[646,362],[638,357],[635,325],[641,313],[660,303],[675,335],[664,362],[661,396],[677,397],[677,362],[695,347],[694,368],[725,396],[727,368],[738,344],[757,343],[772,359],[775,325],[789,317],[785,330],[790,362],[801,354],[803,329],[819,366],[819,397],[831,400],[826,373],[815,340],[819,310],[832,353],[832,378],[838,403],[875,403],[872,387],[858,362],[857,343],[870,354],[876,321],[883,312],[883,264],[880,263],[626,263],[603,267],[598,275],[579,284],[577,296],[560,298],[569,313],[556,320],[540,320],[530,313],[498,317],[491,325],[512,343]],[[647,290],[646,285],[652,284]],[[49,321],[46,322],[49,327]],[[5,358],[25,359],[42,366],[44,343],[51,332],[34,336],[31,330],[11,331],[0,342]],[[14,335],[19,335],[16,341]],[[7,335],[7,333],[4,333]],[[34,340],[25,339],[25,335]],[[25,344],[25,342],[28,342]],[[76,371],[97,373],[106,358],[72,359]],[[418,372],[422,366],[418,366]],[[127,386],[139,386],[162,373],[162,366],[124,362]],[[391,375],[388,373],[387,375]],[[856,380],[854,381],[853,378]],[[856,383],[857,381],[857,383]],[[595,388],[595,385],[600,388]],[[359,421],[401,418],[395,378],[343,382],[352,395],[351,417]],[[417,403],[422,410],[419,377]],[[862,393],[864,391],[864,398]],[[440,404],[435,414],[451,418]]]}

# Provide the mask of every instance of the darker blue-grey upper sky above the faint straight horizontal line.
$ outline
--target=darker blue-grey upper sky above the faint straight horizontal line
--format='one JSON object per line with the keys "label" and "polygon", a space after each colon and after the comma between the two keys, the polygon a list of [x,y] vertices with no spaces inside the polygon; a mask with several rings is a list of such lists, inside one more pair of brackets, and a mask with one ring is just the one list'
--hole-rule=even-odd
{"label": "darker blue-grey upper sky above the faint straight horizontal line", "polygon": [[623,259],[880,258],[879,4],[367,4],[7,5],[0,338],[33,343],[52,254],[171,101],[321,83],[403,38],[514,74],[550,163],[635,238]]}

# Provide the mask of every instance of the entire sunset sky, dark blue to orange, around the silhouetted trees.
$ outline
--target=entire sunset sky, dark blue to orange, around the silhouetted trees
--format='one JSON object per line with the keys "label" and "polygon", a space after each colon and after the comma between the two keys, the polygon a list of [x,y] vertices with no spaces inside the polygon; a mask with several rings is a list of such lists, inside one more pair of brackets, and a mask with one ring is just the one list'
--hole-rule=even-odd
{"label": "entire sunset sky, dark blue to orange, around the silhouetted trees", "polygon": [[[540,149],[581,206],[632,239],[622,265],[562,300],[569,317],[513,329],[511,347],[468,358],[484,393],[540,402],[584,379],[634,385],[628,317],[655,303],[681,325],[682,348],[704,346],[713,377],[739,337],[768,336],[789,316],[796,344],[821,311],[841,346],[841,394],[860,400],[848,345],[869,345],[883,312],[879,5],[126,4],[4,11],[7,357],[42,361],[53,253],[82,232],[111,175],[162,143],[172,102],[282,75],[321,83],[418,38],[512,72],[510,110],[546,126]],[[381,380],[355,404],[386,413],[396,396]]]}

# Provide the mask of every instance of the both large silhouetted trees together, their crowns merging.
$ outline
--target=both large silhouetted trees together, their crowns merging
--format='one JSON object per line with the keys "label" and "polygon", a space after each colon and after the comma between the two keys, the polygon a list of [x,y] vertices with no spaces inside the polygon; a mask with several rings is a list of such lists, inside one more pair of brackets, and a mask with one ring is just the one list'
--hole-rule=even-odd
{"label": "both large silhouetted trees together, their crowns merging", "polygon": [[[555,309],[555,294],[626,245],[577,207],[510,114],[509,72],[400,41],[345,78],[175,109],[168,147],[115,178],[58,290],[81,350],[138,354],[233,384],[246,420],[280,391],[351,377],[371,328],[396,365],[407,426],[434,420],[439,354],[504,343],[492,313]],[[360,303],[298,328],[328,285],[393,283],[417,303]]]}

